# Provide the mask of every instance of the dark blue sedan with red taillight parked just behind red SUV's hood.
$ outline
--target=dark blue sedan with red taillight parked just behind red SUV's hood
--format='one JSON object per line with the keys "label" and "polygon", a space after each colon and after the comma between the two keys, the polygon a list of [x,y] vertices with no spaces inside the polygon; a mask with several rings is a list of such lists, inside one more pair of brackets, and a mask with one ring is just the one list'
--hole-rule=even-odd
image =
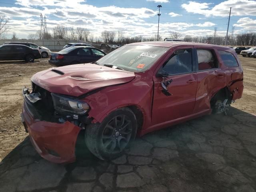
{"label": "dark blue sedan with red taillight parked just behind red SUV's hood", "polygon": [[64,66],[78,63],[94,62],[106,55],[102,50],[88,46],[72,46],[57,53],[52,53],[49,63]]}

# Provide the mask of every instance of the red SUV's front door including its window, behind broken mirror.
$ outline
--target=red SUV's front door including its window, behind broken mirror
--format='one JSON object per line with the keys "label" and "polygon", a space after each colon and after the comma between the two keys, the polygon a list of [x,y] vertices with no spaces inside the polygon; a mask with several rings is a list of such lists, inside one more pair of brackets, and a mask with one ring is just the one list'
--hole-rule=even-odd
{"label": "red SUV's front door including its window, behind broken mirror", "polygon": [[[192,46],[175,50],[158,70],[158,73],[165,73],[167,77],[153,76],[153,124],[172,121],[193,113],[197,83],[193,53]],[[169,96],[164,94],[161,85],[168,80],[172,81],[167,87]]]}

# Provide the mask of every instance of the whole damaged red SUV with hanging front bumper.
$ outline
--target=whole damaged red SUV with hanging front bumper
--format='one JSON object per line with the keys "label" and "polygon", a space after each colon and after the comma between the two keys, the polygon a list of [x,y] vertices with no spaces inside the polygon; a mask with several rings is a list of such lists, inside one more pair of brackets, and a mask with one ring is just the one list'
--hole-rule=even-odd
{"label": "whole damaged red SUV with hanging front bumper", "polygon": [[128,44],[31,81],[32,90],[22,91],[22,121],[38,153],[57,163],[75,160],[81,130],[92,154],[108,160],[136,135],[226,112],[243,92],[234,49],[187,42]]}

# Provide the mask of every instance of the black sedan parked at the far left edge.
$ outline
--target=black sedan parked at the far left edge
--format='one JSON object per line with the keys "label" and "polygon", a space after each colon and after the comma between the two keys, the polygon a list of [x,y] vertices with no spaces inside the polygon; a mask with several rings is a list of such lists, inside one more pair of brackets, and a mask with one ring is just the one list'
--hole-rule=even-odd
{"label": "black sedan parked at the far left edge", "polygon": [[0,60],[25,60],[26,62],[33,62],[35,59],[41,58],[38,49],[33,49],[25,45],[1,45],[0,46]]}

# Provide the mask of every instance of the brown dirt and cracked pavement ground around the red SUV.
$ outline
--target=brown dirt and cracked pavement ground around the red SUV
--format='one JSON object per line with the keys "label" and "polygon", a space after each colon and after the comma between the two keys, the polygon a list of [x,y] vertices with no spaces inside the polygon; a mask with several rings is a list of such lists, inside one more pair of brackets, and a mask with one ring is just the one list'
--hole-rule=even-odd
{"label": "brown dirt and cracked pavement ground around the red SUV", "polygon": [[147,134],[112,162],[94,158],[81,141],[77,162],[68,165],[42,159],[20,122],[21,88],[51,67],[47,59],[0,62],[0,192],[255,192],[256,58],[239,57],[244,94],[228,116]]}

